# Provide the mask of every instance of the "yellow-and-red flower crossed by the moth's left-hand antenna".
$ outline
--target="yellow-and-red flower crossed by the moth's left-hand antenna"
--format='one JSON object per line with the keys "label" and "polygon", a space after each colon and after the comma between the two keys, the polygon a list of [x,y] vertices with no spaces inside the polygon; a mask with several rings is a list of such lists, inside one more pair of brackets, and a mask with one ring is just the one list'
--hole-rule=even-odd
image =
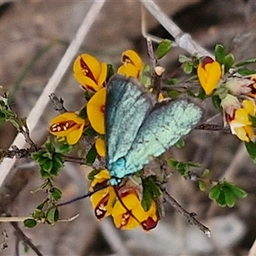
{"label": "yellow-and-red flower crossed by the moth's left-hand antenna", "polygon": [[[89,190],[93,191],[96,187],[107,184],[109,177],[108,170],[102,170],[95,175],[93,181],[90,183]],[[112,186],[101,189],[90,196],[90,201],[94,208],[96,218],[101,220],[111,214],[115,197],[116,195]]]}

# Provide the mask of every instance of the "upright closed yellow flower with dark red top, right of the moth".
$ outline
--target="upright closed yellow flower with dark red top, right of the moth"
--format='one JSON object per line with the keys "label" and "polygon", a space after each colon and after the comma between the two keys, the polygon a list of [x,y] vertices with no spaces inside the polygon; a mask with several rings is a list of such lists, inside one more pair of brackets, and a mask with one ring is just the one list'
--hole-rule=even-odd
{"label": "upright closed yellow flower with dark red top, right of the moth", "polygon": [[221,67],[211,57],[205,57],[197,67],[198,79],[207,95],[212,93],[221,78]]}

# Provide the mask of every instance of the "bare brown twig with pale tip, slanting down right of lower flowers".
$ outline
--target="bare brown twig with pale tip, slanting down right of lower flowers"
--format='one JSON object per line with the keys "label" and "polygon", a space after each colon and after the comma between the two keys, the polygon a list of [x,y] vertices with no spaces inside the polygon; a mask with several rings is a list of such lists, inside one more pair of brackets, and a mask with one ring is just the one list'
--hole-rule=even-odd
{"label": "bare brown twig with pale tip, slanting down right of lower flowers", "polygon": [[189,224],[193,224],[197,226],[201,231],[204,232],[205,235],[208,237],[211,237],[211,231],[201,222],[199,222],[195,218],[195,213],[194,212],[187,212],[174,198],[172,198],[171,195],[169,195],[166,190],[164,191],[164,198],[166,201],[168,201],[171,206],[179,213],[181,213],[185,218],[187,218],[187,221]]}

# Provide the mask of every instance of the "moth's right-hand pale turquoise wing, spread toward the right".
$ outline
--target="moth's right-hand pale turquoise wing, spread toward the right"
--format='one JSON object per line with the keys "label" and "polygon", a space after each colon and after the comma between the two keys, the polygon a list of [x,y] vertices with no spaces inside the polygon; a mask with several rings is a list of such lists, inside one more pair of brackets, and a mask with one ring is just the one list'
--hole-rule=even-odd
{"label": "moth's right-hand pale turquoise wing, spread toward the right", "polygon": [[178,100],[160,102],[148,114],[137,132],[131,150],[125,156],[127,174],[141,170],[150,156],[160,156],[187,135],[202,117],[194,102]]}

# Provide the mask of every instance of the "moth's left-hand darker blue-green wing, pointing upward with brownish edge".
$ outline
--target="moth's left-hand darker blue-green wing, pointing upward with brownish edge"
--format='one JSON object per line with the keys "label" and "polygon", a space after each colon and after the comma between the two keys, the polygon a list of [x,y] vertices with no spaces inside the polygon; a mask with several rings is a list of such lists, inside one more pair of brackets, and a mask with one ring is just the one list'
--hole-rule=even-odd
{"label": "moth's left-hand darker blue-green wing, pointing upward with brownish edge", "polygon": [[130,150],[145,116],[156,100],[136,79],[114,75],[107,85],[105,109],[106,162],[111,170],[113,162]]}

